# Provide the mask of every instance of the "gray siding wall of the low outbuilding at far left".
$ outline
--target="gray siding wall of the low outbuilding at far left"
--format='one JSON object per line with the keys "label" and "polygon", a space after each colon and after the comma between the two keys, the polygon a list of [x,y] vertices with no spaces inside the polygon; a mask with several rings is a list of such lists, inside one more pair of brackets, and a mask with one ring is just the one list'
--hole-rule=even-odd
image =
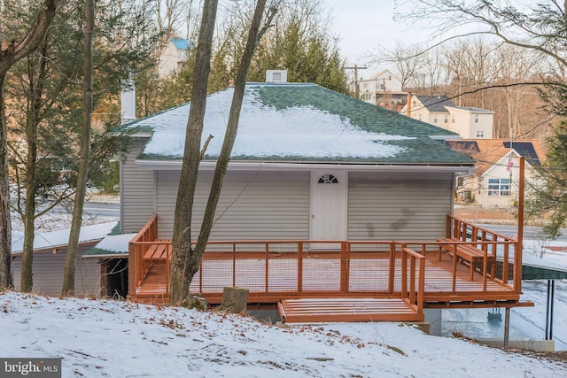
{"label": "gray siding wall of the low outbuilding at far left", "polygon": [[[74,271],[74,291],[78,297],[98,296],[100,293],[100,265],[97,259],[84,259],[82,254],[89,251],[96,243],[87,243],[79,246]],[[66,248],[57,253],[53,250],[35,251],[33,278],[33,292],[46,296],[59,296],[63,288],[63,274],[65,272]],[[14,286],[19,290],[21,277],[21,255],[13,260]]]}

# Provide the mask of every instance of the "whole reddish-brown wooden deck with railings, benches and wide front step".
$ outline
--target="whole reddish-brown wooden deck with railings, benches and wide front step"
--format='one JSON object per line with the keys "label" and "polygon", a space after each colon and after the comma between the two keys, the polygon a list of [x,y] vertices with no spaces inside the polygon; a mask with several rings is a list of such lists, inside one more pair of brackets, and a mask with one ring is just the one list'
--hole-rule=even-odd
{"label": "whole reddish-brown wooden deck with railings, benches and wide front step", "polygon": [[[157,240],[156,220],[143,231],[130,243],[130,296],[167,303],[171,242]],[[210,242],[190,291],[218,304],[225,287],[246,288],[250,303],[279,302],[286,321],[423,320],[427,307],[521,305],[515,240],[453,217],[447,238],[483,256],[463,261],[442,242]]]}

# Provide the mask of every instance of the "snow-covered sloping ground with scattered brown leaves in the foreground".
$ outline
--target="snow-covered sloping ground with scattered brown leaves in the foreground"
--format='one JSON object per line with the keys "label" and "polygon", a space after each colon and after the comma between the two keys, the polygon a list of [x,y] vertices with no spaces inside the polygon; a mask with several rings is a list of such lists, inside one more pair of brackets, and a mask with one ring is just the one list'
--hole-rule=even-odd
{"label": "snow-covered sloping ground with scattered brown leaves in the foreground", "polygon": [[558,377],[567,364],[409,324],[278,328],[240,315],[0,294],[0,356],[62,358],[85,377]]}

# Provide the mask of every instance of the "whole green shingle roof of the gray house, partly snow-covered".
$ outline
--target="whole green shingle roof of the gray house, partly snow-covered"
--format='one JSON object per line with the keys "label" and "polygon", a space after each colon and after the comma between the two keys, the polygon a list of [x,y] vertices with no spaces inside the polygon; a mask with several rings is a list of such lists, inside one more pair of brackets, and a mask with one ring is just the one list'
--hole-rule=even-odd
{"label": "whole green shingle roof of the gray house, partly snow-covered", "polygon": [[[225,89],[207,99],[201,145],[209,135],[214,138],[206,159],[219,156],[233,92]],[[153,132],[138,158],[182,158],[189,112],[190,104],[183,104],[128,124]],[[408,162],[419,157],[427,163],[469,163],[451,155],[454,151],[440,153],[445,146],[431,143],[431,135],[454,133],[311,83],[248,83],[232,158]]]}

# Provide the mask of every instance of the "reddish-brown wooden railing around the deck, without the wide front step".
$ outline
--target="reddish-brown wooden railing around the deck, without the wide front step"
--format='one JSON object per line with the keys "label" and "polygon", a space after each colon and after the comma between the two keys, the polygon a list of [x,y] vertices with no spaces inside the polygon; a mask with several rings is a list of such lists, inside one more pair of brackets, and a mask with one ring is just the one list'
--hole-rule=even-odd
{"label": "reddish-brown wooden railing around the deck, without the wide front step", "polygon": [[[419,312],[432,302],[519,299],[521,271],[511,268],[517,261],[515,239],[452,216],[447,217],[447,230],[447,237],[458,237],[451,243],[474,245],[484,258],[470,266],[445,253],[444,243],[432,241],[211,241],[190,291],[211,303],[220,302],[227,286],[249,289],[249,300],[259,303],[299,297],[401,297]],[[167,247],[162,248],[167,276],[159,295],[168,297],[171,241],[157,240],[155,217],[130,243],[133,297],[156,297],[155,288],[144,292],[142,285],[150,266],[144,264],[144,255],[147,259],[156,245]]]}

